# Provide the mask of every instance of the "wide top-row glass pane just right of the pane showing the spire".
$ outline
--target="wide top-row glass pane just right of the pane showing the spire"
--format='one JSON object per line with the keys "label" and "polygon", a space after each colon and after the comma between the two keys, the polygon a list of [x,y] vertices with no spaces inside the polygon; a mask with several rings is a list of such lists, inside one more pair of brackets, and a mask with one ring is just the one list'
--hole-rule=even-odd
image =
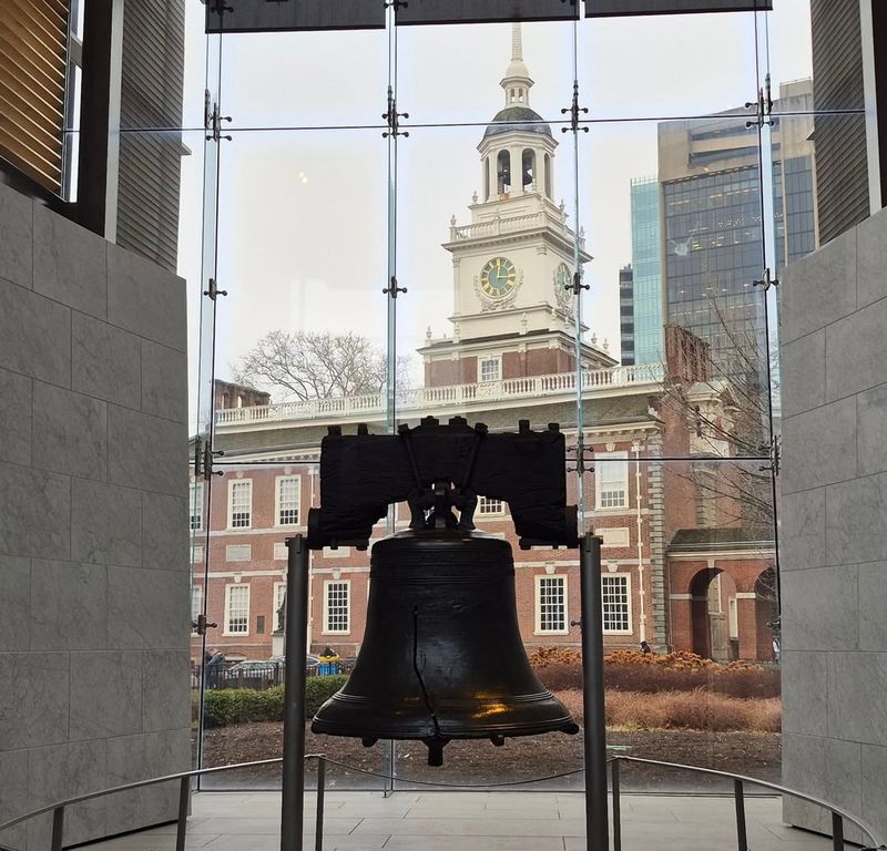
{"label": "wide top-row glass pane just right of the pane showing the spire", "polygon": [[598,120],[745,113],[757,92],[755,14],[589,20],[580,29],[579,82],[582,105]]}

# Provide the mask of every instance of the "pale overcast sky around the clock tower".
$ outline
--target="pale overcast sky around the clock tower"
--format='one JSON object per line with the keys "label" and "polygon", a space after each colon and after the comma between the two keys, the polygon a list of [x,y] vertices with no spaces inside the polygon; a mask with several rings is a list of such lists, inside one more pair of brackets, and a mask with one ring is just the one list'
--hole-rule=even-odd
{"label": "pale overcast sky around the clock tower", "polygon": [[[779,82],[810,75],[809,2],[774,0],[763,14],[625,18],[522,27],[534,80],[530,106],[559,146],[554,194],[579,222],[594,259],[584,320],[619,353],[619,269],[631,262],[630,181],[656,173],[656,125],[755,99],[758,71]],[[200,0],[187,0],[185,145],[180,274],[188,281],[191,339],[200,331],[206,40]],[[504,105],[499,86],[510,24],[399,28],[398,111],[408,112],[394,171],[397,346],[412,352],[430,327],[451,334],[452,266],[440,247],[450,217],[470,222],[480,192],[477,144]],[[756,48],[757,40],[757,48]],[[767,43],[768,42],[768,43]],[[561,133],[572,96],[593,120]],[[223,39],[216,375],[276,329],[354,331],[386,344],[389,145],[381,113],[388,34],[255,33]],[[407,125],[410,125],[407,127]],[[578,166],[578,167],[577,167]],[[192,355],[192,387],[197,347]],[[418,363],[418,359],[416,361]]]}

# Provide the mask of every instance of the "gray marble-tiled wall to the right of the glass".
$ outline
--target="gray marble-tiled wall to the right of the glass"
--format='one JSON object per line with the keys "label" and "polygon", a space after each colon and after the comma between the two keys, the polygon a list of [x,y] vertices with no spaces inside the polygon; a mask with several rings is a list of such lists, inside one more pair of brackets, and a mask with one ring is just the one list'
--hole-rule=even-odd
{"label": "gray marble-tiled wall to the right of the glass", "polygon": [[782,277],[783,775],[887,835],[887,211]]}

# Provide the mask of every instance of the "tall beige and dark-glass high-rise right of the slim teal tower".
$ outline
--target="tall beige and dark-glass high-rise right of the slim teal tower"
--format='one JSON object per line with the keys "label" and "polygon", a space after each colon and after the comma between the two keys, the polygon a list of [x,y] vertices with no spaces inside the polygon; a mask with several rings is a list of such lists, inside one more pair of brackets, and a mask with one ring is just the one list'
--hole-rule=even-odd
{"label": "tall beige and dark-glass high-rise right of the slim teal tower", "polygon": [[[779,94],[775,113],[812,109],[809,80],[785,84]],[[817,244],[812,130],[810,119],[796,116],[774,117],[771,126],[774,274]],[[767,182],[762,187],[757,125],[743,109],[663,122],[659,171],[665,324],[707,342],[716,372],[759,378],[766,336],[755,281],[767,265],[761,201]]]}

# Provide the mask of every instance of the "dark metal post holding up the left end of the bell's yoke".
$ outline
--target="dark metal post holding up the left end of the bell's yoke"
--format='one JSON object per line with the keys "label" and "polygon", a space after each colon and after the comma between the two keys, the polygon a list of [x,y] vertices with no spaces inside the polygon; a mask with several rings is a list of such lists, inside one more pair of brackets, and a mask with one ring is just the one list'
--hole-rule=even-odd
{"label": "dark metal post holding up the left end of the bell's yoke", "polygon": [[308,652],[308,546],[286,540],[283,804],[281,851],[302,851],[305,811],[305,656]]}

